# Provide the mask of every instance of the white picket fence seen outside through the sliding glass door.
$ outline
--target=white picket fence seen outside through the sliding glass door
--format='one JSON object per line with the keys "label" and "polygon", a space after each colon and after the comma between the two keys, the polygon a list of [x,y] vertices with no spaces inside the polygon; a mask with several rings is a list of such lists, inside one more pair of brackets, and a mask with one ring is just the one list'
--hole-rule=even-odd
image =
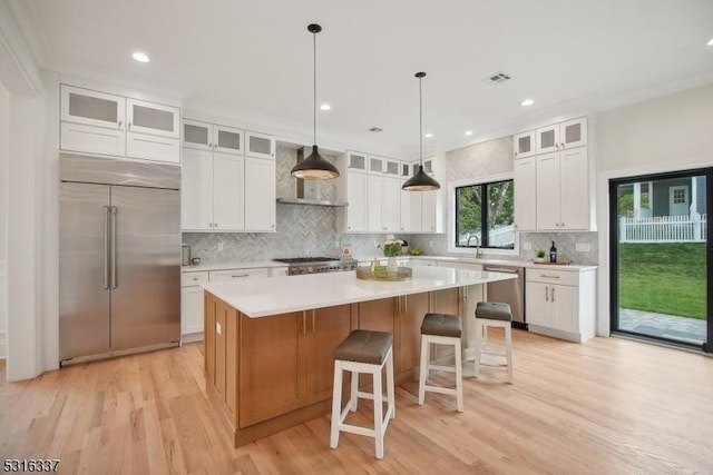
{"label": "white picket fence seen outside through the sliding glass door", "polygon": [[707,215],[619,218],[619,243],[703,243]]}

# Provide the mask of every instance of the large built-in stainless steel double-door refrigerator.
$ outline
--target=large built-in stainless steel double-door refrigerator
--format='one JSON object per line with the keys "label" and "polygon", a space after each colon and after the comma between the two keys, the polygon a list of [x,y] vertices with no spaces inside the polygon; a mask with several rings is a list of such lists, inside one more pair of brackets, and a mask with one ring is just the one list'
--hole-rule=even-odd
{"label": "large built-in stainless steel double-door refrigerator", "polygon": [[60,365],[176,346],[180,168],[60,158]]}

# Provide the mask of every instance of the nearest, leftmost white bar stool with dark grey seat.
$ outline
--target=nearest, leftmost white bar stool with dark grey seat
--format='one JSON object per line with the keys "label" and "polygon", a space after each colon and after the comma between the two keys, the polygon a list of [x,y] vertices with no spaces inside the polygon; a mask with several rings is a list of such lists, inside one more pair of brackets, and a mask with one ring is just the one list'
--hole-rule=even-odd
{"label": "nearest, leftmost white bar stool with dark grey seat", "polygon": [[[332,429],[330,447],[336,448],[341,431],[365,435],[375,439],[377,458],[383,458],[383,435],[389,420],[395,418],[395,397],[393,387],[393,335],[388,331],[353,330],[336,349],[334,349],[334,389],[332,393]],[[381,373],[387,368],[387,414],[383,412],[383,394]],[[351,395],[342,409],[342,372],[351,372]],[[371,374],[373,393],[359,390],[359,374]],[[359,398],[373,399],[374,427],[361,427],[345,424],[350,410],[356,410]]]}

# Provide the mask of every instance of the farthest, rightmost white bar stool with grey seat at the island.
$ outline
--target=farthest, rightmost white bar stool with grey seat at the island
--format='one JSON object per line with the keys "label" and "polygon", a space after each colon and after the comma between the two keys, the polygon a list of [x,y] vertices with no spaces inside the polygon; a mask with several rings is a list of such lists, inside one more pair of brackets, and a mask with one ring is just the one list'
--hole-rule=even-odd
{"label": "farthest, rightmost white bar stool with grey seat at the island", "polygon": [[[487,349],[488,327],[505,328],[505,353]],[[482,365],[482,366],[507,366],[508,383],[512,384],[512,311],[508,304],[496,301],[479,301],[476,307],[476,362],[475,375],[480,376],[480,357],[484,354],[505,356],[506,365]]]}

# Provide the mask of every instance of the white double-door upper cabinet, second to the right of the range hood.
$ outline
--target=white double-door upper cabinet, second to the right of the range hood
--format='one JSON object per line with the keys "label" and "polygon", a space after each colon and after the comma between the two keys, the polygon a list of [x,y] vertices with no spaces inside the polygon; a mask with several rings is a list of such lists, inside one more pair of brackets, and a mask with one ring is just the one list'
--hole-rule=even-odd
{"label": "white double-door upper cabinet, second to the right of the range hood", "polygon": [[372,232],[398,232],[401,225],[401,180],[369,176],[368,222]]}

